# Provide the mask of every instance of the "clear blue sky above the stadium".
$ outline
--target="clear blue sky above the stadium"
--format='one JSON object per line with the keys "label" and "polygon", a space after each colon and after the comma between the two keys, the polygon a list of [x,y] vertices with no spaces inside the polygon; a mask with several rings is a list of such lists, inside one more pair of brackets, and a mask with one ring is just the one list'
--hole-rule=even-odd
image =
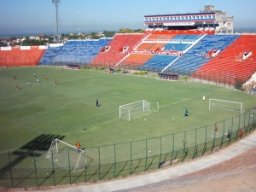
{"label": "clear blue sky above the stadium", "polygon": [[[60,0],[61,33],[146,29],[144,15],[197,13],[204,5],[234,16],[235,30],[256,31],[256,0]],[[1,0],[0,36],[53,34],[55,4],[52,0]]]}

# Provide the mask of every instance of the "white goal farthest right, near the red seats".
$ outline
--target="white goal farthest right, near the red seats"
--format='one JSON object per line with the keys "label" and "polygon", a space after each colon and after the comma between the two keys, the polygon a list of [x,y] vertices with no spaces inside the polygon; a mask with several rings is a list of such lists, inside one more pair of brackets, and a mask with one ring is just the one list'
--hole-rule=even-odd
{"label": "white goal farthest right, near the red seats", "polygon": [[244,113],[244,108],[242,102],[230,102],[219,99],[209,99],[209,109],[219,108],[228,111],[235,111],[239,113]]}

